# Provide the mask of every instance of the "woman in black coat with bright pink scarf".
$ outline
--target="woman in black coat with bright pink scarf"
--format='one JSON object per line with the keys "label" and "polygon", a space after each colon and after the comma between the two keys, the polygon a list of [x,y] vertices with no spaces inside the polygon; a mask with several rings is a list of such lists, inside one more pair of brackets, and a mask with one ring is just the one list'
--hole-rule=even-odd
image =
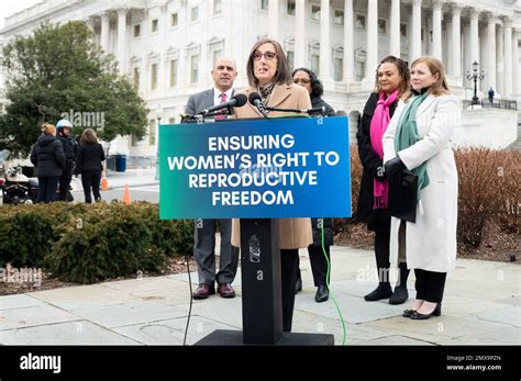
{"label": "woman in black coat with bright pink scarf", "polygon": [[389,179],[384,169],[381,139],[400,100],[409,97],[410,74],[407,63],[395,56],[384,58],[376,69],[375,91],[369,96],[358,124],[356,139],[364,167],[356,212],[357,221],[375,232],[375,256],[378,287],[364,296],[368,302],[389,298],[390,304],[402,304],[409,298],[407,264],[399,264],[395,292],[390,287],[390,215],[387,209]]}

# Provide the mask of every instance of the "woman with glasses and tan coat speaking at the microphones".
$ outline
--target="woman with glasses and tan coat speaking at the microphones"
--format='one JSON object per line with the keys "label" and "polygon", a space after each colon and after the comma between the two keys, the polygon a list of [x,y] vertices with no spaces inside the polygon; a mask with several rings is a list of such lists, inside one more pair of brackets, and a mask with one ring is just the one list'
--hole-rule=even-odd
{"label": "woman with glasses and tan coat speaking at the microphones", "polygon": [[[250,54],[246,74],[250,87],[245,94],[256,92],[265,105],[280,109],[311,109],[308,91],[293,85],[291,70],[280,44],[274,40],[259,40]],[[232,119],[263,117],[253,104],[236,108]],[[271,111],[270,116],[281,115]],[[280,272],[282,289],[282,330],[291,332],[293,317],[295,287],[299,269],[299,248],[312,244],[310,218],[280,218]],[[232,222],[232,245],[241,247],[240,222]]]}

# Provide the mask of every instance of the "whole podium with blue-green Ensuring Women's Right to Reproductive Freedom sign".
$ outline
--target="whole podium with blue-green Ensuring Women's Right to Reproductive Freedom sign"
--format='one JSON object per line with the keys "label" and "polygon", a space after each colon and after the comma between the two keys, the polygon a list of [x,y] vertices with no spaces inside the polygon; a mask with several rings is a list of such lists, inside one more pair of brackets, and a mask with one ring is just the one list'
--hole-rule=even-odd
{"label": "whole podium with blue-green Ensuring Women's Right to Reproductive Freedom sign", "polygon": [[[207,123],[198,123],[197,126],[181,124],[162,127],[159,152],[164,159],[160,160],[160,218],[229,218],[233,216],[239,217],[241,224],[243,329],[218,329],[196,345],[333,345],[333,335],[282,332],[280,220],[278,218],[304,215],[351,216],[351,203],[345,202],[345,200],[351,200],[347,120],[345,117],[243,120],[215,122],[211,126]],[[317,132],[320,133],[320,139],[317,138]],[[277,194],[284,193],[284,198],[280,203],[270,204],[268,201],[275,198],[275,192],[273,192],[271,199],[267,199],[265,204],[248,204],[246,201],[233,204],[233,200],[242,199],[231,199],[230,193],[228,198],[224,198],[220,192],[231,192],[235,188],[232,187],[233,189],[230,190],[225,184],[215,186],[214,183],[208,186],[204,179],[209,177],[206,176],[219,172],[226,179],[228,175],[241,170],[239,166],[241,163],[262,161],[263,164],[257,169],[269,166],[259,157],[266,158],[275,154],[278,147],[273,148],[268,143],[263,143],[267,147],[258,148],[241,143],[239,150],[234,148],[234,142],[237,142],[239,135],[248,137],[263,134],[277,135],[277,138],[273,141],[275,143],[270,144],[279,144],[284,147],[284,149],[280,148],[284,155],[287,155],[288,160],[295,165],[288,167],[288,170],[300,170],[308,177],[303,175],[300,178],[295,177],[295,179],[303,179],[301,180],[303,183],[290,183],[284,187],[237,186],[236,193],[242,191],[247,193],[250,190],[269,192],[274,189],[279,192]],[[217,137],[222,138],[221,144],[215,143]],[[321,155],[313,155],[314,152]],[[233,168],[215,170],[207,167],[200,169],[193,165],[184,167],[180,161],[181,158],[190,157],[190,164],[193,164],[193,158],[207,159],[212,155],[236,156],[237,161],[235,166],[232,166]],[[240,156],[248,159],[242,161],[239,159]],[[308,157],[309,163],[304,164],[302,157]],[[324,163],[322,166],[319,163],[321,160]],[[206,166],[207,161],[200,163],[204,163],[201,166]],[[251,166],[245,168],[248,169]],[[320,172],[321,177],[313,177],[313,171]],[[191,175],[190,181],[187,180],[189,175]],[[201,182],[199,182],[199,176]],[[343,180],[339,181],[339,179]],[[337,192],[331,193],[331,183],[335,184]],[[174,197],[168,192],[170,189],[176,189]],[[295,192],[291,193],[292,191]],[[286,198],[288,192],[291,195],[290,203]],[[228,200],[228,203],[224,200]],[[253,198],[247,200],[251,201]],[[198,205],[197,210],[193,205]]]}

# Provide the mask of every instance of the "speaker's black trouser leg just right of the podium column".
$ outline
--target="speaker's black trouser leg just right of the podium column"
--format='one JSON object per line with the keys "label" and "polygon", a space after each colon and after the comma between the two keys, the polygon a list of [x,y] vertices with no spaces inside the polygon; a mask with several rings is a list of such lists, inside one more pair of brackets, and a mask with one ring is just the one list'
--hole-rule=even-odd
{"label": "speaker's black trouser leg just right of the podium column", "polygon": [[282,289],[282,330],[291,332],[295,287],[299,271],[299,249],[280,249],[280,280]]}

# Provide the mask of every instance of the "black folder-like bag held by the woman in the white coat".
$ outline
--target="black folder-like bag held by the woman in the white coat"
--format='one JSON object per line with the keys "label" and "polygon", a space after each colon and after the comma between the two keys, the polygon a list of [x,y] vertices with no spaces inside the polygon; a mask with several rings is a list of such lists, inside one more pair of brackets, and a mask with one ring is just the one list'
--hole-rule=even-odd
{"label": "black folder-like bag held by the woman in the white coat", "polygon": [[389,180],[387,209],[393,217],[417,222],[418,176],[400,172]]}

